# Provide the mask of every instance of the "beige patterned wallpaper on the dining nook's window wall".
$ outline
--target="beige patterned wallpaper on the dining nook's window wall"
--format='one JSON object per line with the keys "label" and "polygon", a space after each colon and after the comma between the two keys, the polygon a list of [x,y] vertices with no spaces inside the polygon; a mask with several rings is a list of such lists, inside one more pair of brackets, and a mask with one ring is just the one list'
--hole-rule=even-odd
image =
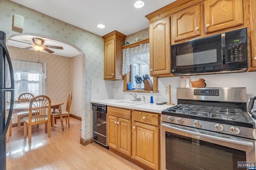
{"label": "beige patterned wallpaper on the dining nook's window wall", "polygon": [[[18,47],[8,46],[8,51],[11,57],[38,60],[38,52],[34,50],[23,50]],[[40,61],[46,61],[46,95],[50,97],[51,101],[64,102],[62,110],[66,109],[66,100],[70,92],[71,60],[72,58],[70,57],[40,53]],[[72,105],[71,107],[74,106]],[[16,122],[16,116],[14,116],[13,123]]]}

